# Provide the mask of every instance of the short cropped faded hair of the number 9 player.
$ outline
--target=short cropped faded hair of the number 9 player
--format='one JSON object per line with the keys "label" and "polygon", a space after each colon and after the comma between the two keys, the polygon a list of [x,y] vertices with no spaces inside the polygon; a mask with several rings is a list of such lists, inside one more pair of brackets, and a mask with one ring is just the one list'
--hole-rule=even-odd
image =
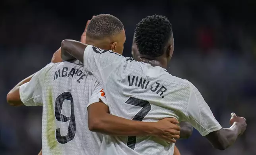
{"label": "short cropped faded hair of the number 9 player", "polygon": [[91,19],[86,36],[93,39],[103,39],[119,34],[123,29],[124,25],[118,18],[109,14],[100,14]]}

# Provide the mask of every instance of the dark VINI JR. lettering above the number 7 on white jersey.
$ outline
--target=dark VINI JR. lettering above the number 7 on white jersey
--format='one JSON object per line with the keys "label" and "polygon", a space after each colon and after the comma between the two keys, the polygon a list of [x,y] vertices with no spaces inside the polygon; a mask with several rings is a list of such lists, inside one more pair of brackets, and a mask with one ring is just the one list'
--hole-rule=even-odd
{"label": "dark VINI JR. lettering above the number 7 on white jersey", "polygon": [[[135,80],[135,82],[134,82],[134,80]],[[150,82],[151,81],[147,81],[146,79],[143,79],[142,77],[128,76],[129,86],[135,86],[135,87],[139,87],[142,89],[147,89],[147,85],[149,85]],[[161,85],[161,87],[159,87],[160,85]],[[163,96],[163,93],[165,93],[167,91],[167,88],[163,84],[156,82],[155,84],[153,84],[150,87],[150,91],[155,92],[156,94],[158,94],[162,98],[164,98],[165,96]]]}

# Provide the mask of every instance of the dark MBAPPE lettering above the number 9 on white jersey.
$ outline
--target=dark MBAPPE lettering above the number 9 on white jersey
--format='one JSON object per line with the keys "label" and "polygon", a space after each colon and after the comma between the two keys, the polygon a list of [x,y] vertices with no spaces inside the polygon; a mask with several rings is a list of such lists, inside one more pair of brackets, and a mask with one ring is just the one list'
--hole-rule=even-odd
{"label": "dark MBAPPE lettering above the number 9 on white jersey", "polygon": [[69,70],[68,67],[63,67],[62,69],[59,69],[58,71],[54,72],[54,79],[58,79],[58,77],[70,77],[70,76],[80,76],[78,80],[78,83],[80,83],[80,81],[83,79],[83,77],[86,76],[86,74],[83,74],[83,72],[81,70],[75,69],[75,68],[71,68],[71,70]]}

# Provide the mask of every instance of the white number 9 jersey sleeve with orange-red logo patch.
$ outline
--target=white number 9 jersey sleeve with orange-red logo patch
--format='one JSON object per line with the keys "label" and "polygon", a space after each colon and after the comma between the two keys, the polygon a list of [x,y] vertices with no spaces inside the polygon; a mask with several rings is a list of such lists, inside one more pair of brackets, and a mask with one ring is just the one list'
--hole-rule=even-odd
{"label": "white number 9 jersey sleeve with orange-red logo patch", "polygon": [[95,82],[93,82],[93,87],[91,87],[91,92],[92,93],[91,93],[91,96],[89,96],[89,102],[87,107],[95,102],[99,102],[100,99],[104,104],[108,106],[107,100],[105,97],[105,92],[103,90],[103,87],[99,83],[99,81],[96,80]]}

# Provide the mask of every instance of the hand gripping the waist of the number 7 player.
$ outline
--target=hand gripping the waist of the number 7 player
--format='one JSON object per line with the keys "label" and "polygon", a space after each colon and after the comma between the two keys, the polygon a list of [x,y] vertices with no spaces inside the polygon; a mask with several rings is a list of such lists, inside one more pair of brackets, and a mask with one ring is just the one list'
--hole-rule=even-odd
{"label": "hand gripping the waist of the number 7 player", "polygon": [[180,127],[175,118],[165,118],[155,123],[155,136],[166,142],[175,143],[180,138]]}

